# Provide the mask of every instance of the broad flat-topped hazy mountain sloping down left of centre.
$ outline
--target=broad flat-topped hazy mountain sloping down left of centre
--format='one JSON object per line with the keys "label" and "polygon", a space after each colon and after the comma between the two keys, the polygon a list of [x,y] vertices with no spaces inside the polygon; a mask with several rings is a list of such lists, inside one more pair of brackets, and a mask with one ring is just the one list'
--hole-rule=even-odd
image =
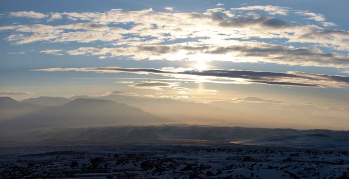
{"label": "broad flat-topped hazy mountain sloping down left of centre", "polygon": [[42,127],[151,124],[166,121],[169,120],[114,101],[76,99],[64,106],[46,107],[45,110],[3,121],[0,125],[4,130],[29,130]]}

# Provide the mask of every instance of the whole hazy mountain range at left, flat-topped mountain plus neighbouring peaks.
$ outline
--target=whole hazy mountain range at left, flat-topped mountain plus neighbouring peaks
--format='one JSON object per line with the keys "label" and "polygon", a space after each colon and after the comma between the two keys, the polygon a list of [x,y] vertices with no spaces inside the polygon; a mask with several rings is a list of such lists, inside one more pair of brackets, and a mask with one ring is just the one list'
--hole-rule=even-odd
{"label": "whole hazy mountain range at left, flat-topped mountain plus neighbouring peaks", "polygon": [[[62,100],[54,98],[56,100]],[[36,99],[36,103],[46,101]],[[31,101],[31,100],[26,100]],[[53,101],[53,100],[52,100]],[[52,104],[52,103],[51,103]],[[46,106],[0,98],[0,129],[18,132],[49,127],[86,127],[169,122],[140,108],[101,99],[75,99],[62,106]]]}

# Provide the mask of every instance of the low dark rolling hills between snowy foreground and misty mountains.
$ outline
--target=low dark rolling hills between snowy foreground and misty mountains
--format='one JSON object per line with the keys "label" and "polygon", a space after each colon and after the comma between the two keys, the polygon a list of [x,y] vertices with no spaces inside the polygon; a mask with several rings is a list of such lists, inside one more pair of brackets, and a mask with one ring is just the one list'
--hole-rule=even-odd
{"label": "low dark rolling hills between snowy foreground and misty mountains", "polygon": [[[349,149],[349,131],[296,130],[284,128],[246,128],[217,126],[113,126],[89,128],[61,128],[30,133],[27,141],[87,143],[117,141],[162,141],[162,140],[206,140],[212,142],[233,142],[236,144],[284,146],[319,149]],[[23,140],[13,136],[8,140]]]}

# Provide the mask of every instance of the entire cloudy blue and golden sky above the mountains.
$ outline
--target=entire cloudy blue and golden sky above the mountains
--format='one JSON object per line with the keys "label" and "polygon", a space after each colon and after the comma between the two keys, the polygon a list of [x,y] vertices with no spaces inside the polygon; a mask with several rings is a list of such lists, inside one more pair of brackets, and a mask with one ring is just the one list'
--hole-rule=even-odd
{"label": "entire cloudy blue and golden sky above the mountains", "polygon": [[117,91],[241,103],[246,111],[292,106],[349,121],[347,7],[340,0],[1,1],[0,95]]}

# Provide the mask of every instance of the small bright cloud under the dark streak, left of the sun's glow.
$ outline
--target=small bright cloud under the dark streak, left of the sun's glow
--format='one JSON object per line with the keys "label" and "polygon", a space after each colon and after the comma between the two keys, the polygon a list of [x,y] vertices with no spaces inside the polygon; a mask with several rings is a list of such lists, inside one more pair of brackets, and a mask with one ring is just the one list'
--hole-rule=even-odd
{"label": "small bright cloud under the dark streak, left of the sun's glow", "polygon": [[153,89],[157,91],[163,91],[163,88],[170,88],[179,86],[180,82],[161,82],[161,81],[142,81],[141,83],[134,83],[128,85],[129,87],[141,88],[141,89]]}

